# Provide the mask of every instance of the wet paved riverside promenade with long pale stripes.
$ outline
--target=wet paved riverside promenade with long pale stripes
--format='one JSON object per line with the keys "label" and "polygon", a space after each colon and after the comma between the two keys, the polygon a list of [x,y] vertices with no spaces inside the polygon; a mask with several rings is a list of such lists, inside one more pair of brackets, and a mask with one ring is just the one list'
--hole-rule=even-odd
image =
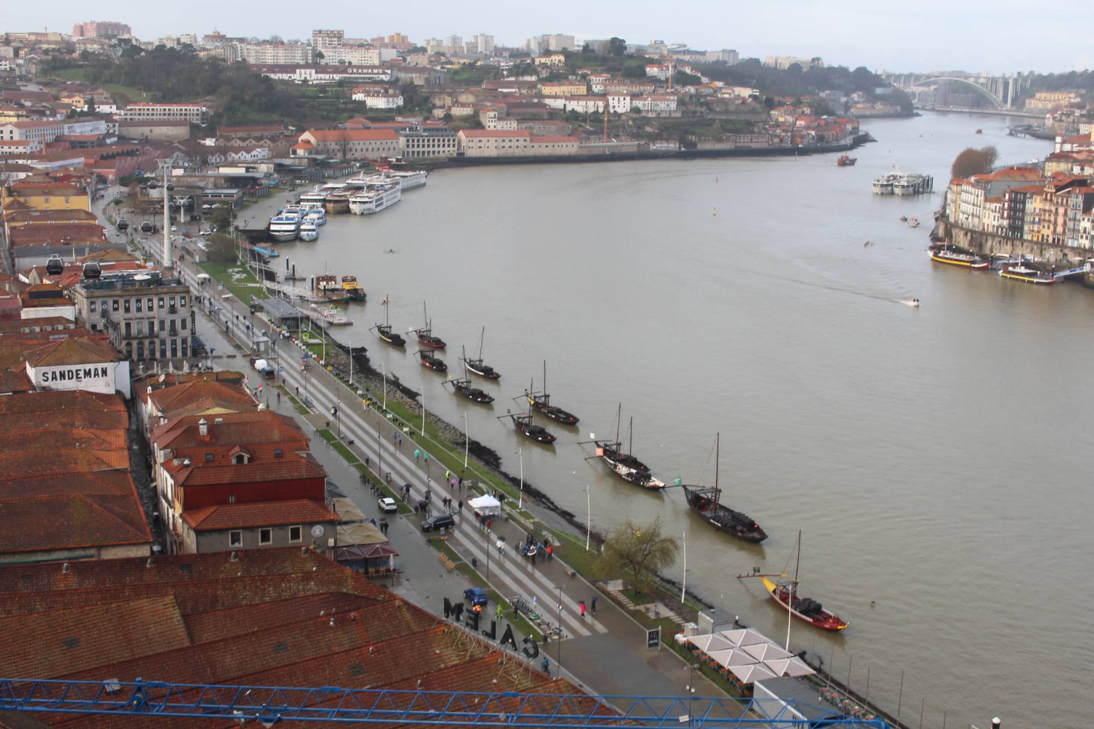
{"label": "wet paved riverside promenade with long pale stripes", "polygon": [[[235,297],[221,299],[216,287],[201,286],[197,281],[197,270],[189,261],[184,262],[179,270],[184,280],[198,294],[212,297],[218,307],[212,314],[214,324],[206,322],[199,327],[203,338],[210,337],[209,330],[216,329],[213,341],[221,341],[226,346],[230,336],[243,349],[249,346],[252,332],[246,328],[249,322],[249,309]],[[209,307],[205,307],[208,311]],[[240,317],[236,319],[235,315]],[[207,339],[207,343],[210,343]],[[228,349],[220,352],[230,351]],[[300,350],[290,342],[281,341],[280,352],[271,358],[284,365],[281,378],[266,380],[264,400],[268,399],[270,407],[284,414],[295,413],[288,401],[282,398],[278,403],[274,397],[274,388],[278,381],[283,383],[290,391],[300,388],[301,395],[306,393],[315,403],[316,414],[303,420],[311,426],[323,425],[330,405],[339,404],[340,425],[344,442],[353,442],[350,449],[362,460],[366,458],[374,467],[374,472],[391,473],[391,485],[410,484],[410,503],[424,498],[427,490],[432,492],[433,513],[440,510],[440,499],[451,496],[455,502],[463,498],[466,502],[474,497],[466,487],[463,492],[451,491],[441,473],[439,466],[427,466],[422,460],[416,460],[414,450],[418,447],[411,437],[404,434],[404,443],[398,447],[393,434],[401,433],[377,412],[366,410],[360,399],[353,396],[330,373],[314,366],[310,371],[300,368]],[[248,371],[246,358],[229,360],[229,367]],[[257,380],[252,377],[251,384]],[[344,397],[345,396],[345,397]],[[337,430],[331,423],[331,430]],[[357,471],[346,465],[345,460],[333,449],[324,448],[323,439],[313,438],[312,448],[323,462],[328,473],[338,486],[369,516],[379,516],[375,497],[364,487]],[[439,477],[434,479],[433,477]],[[466,486],[466,482],[465,482]],[[458,597],[466,581],[458,573],[449,573],[424,541],[418,524],[420,516],[406,515],[405,518],[388,517],[392,524],[389,537],[399,550],[406,573],[401,579],[395,580],[394,591],[433,613],[440,613],[443,598]],[[498,556],[494,546],[497,538],[504,536],[507,549]],[[542,538],[543,534],[537,534]],[[528,601],[535,598],[537,612],[549,626],[561,624],[562,640],[552,640],[540,647],[542,652],[549,656],[552,663],[559,662],[566,669],[567,678],[589,691],[600,694],[643,694],[643,695],[683,695],[691,677],[690,667],[667,648],[645,648],[645,631],[616,607],[606,596],[581,577],[569,574],[569,569],[560,561],[531,563],[514,554],[515,544],[525,539],[525,530],[517,524],[505,518],[493,521],[491,533],[479,529],[469,508],[456,516],[456,528],[450,530],[449,544],[468,564],[477,563],[477,572],[500,595],[512,598],[523,596]],[[578,549],[565,545],[565,550]],[[488,566],[489,565],[489,566]],[[597,598],[597,614],[592,614],[592,599]],[[584,600],[589,612],[584,618],[580,614],[579,602]],[[492,614],[488,611],[487,613]],[[547,627],[545,625],[545,627]],[[499,635],[503,631],[499,625]],[[548,628],[549,630],[549,628]],[[546,631],[545,631],[546,632]],[[711,683],[697,677],[698,695],[721,695]]]}

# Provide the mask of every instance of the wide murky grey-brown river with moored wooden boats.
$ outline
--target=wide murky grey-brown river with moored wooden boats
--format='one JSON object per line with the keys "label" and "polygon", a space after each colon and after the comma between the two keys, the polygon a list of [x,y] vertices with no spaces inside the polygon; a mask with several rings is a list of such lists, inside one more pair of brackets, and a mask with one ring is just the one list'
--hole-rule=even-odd
{"label": "wide murky grey-brown river with moored wooden boats", "polygon": [[[333,331],[369,348],[452,423],[497,449],[594,526],[661,517],[687,534],[688,588],[771,637],[785,613],[753,566],[793,571],[802,593],[850,622],[793,625],[791,644],[901,718],[923,726],[1069,725],[1089,716],[1094,669],[1090,515],[1094,292],[1032,287],[932,263],[932,211],[965,146],[1001,162],[1050,143],[1006,136],[1006,117],[927,114],[863,128],[854,154],[444,169],[379,215],[331,216],[315,244],[281,246],[306,273],[354,273],[373,303]],[[975,134],[981,128],[982,134]],[[935,193],[875,197],[894,165]],[[717,215],[713,214],[717,210]],[[252,214],[255,214],[254,212]],[[244,214],[246,216],[247,213]],[[916,216],[912,230],[898,219]],[[870,240],[871,246],[864,247]],[[394,250],[394,254],[386,252]],[[422,322],[478,348],[503,374],[492,408],[368,331]],[[915,309],[901,302],[915,296]],[[508,421],[543,361],[552,400],[580,427],[546,423],[554,448]],[[377,362],[379,364],[379,362]],[[711,483],[721,433],[725,501],[770,538],[713,533],[679,490],[610,477],[589,446],[633,418],[633,451],[672,482]],[[1087,423],[1087,425],[1083,425]],[[670,574],[683,576],[683,563]]]}

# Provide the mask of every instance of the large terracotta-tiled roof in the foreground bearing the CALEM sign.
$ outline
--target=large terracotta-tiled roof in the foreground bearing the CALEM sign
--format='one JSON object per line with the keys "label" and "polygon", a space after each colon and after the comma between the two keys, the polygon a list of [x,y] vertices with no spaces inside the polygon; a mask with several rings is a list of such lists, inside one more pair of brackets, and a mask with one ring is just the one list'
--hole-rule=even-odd
{"label": "large terracotta-tiled roof in the foreground bearing the CALEM sign", "polygon": [[0,655],[43,679],[580,693],[299,548],[0,567]]}

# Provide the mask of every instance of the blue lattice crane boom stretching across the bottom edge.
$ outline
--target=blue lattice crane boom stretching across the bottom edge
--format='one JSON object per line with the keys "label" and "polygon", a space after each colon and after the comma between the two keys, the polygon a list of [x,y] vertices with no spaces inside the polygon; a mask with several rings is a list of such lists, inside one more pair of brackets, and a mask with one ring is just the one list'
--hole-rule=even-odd
{"label": "blue lattice crane boom stretching across the bottom edge", "polygon": [[[0,710],[43,714],[194,717],[259,721],[339,721],[554,729],[737,729],[871,727],[794,698],[592,696],[586,694],[391,691],[336,686],[229,686],[162,681],[0,679]],[[812,718],[805,716],[812,715]]]}

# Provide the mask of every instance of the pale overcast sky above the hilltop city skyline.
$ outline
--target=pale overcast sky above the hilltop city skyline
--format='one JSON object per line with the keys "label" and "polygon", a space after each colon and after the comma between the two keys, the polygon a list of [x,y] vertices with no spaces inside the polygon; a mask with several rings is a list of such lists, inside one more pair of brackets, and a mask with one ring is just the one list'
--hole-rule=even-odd
{"label": "pale overcast sky above the hilltop city skyline", "polygon": [[821,56],[828,63],[871,70],[964,70],[996,73],[1062,72],[1094,68],[1094,7],[1028,0],[600,0],[594,3],[516,3],[509,0],[414,2],[150,3],[138,0],[45,5],[5,3],[3,31],[71,31],[73,23],[129,23],[140,38],[217,30],[234,36],[307,38],[313,27],[342,28],[350,37],[401,32],[411,40],[493,35],[519,45],[531,35],[583,38],[613,35],[693,48],[734,48],[742,58]]}

